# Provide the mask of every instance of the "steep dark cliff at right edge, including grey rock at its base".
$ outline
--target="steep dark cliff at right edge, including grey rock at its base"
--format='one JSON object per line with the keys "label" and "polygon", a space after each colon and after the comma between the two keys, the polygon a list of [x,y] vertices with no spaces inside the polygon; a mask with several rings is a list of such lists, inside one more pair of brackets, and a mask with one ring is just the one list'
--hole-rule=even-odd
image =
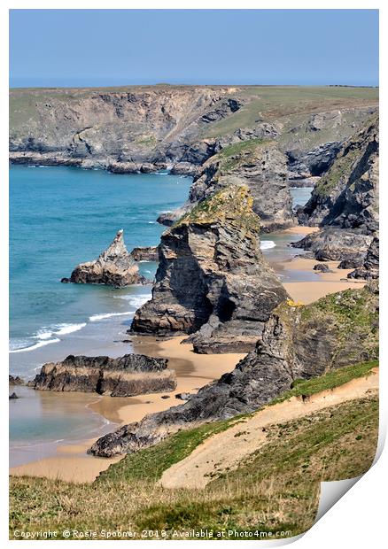
{"label": "steep dark cliff at right edge, including grey rock at its base", "polygon": [[316,259],[347,259],[357,254],[354,267],[361,265],[378,229],[378,142],[378,118],[374,117],[343,143],[299,211],[302,223],[320,226],[322,231],[296,247],[314,251]]}

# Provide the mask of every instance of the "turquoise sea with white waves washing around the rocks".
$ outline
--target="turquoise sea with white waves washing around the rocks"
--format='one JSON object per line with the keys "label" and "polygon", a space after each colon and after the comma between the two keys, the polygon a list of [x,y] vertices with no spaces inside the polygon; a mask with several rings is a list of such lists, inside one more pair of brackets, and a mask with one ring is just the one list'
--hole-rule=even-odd
{"label": "turquoise sea with white waves washing around the rocks", "polygon": [[[123,353],[123,340],[136,309],[151,298],[151,284],[113,289],[64,284],[73,268],[95,259],[120,228],[128,251],[159,244],[166,229],[156,220],[188,197],[190,177],[109,174],[74,167],[10,168],[10,373],[32,379],[49,361],[68,354]],[[291,189],[294,205],[312,189]],[[263,235],[271,261],[295,254],[298,236]],[[141,262],[153,279],[157,264]],[[128,336],[127,336],[128,337]],[[125,352],[130,352],[130,344]],[[10,400],[11,464],[50,455],[55,445],[101,434],[109,421],[93,413],[96,397],[47,394],[15,388]]]}

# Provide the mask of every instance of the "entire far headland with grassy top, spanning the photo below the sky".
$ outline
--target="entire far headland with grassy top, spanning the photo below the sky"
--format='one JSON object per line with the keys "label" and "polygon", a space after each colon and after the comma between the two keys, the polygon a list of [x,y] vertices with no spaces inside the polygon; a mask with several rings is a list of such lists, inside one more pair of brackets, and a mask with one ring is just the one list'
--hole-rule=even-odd
{"label": "entire far headland with grassy top, spanning the photo below the sky", "polygon": [[290,152],[293,176],[320,175],[377,102],[378,89],[330,87],[12,89],[10,159],[196,174],[220,144],[264,136]]}

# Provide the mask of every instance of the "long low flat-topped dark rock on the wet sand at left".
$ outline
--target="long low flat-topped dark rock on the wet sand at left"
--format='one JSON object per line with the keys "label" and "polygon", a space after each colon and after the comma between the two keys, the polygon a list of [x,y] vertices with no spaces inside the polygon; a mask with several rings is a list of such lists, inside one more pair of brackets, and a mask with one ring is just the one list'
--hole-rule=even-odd
{"label": "long low flat-topped dark rock on the wet sand at left", "polygon": [[171,391],[176,378],[167,362],[143,354],[118,359],[70,355],[62,362],[44,364],[29,385],[38,390],[97,392],[111,397]]}

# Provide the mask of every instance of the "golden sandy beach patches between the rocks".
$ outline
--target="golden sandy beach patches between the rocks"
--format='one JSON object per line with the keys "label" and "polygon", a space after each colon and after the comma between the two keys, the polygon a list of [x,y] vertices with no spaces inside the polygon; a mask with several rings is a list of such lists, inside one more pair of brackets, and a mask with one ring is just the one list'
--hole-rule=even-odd
{"label": "golden sandy beach patches between the rocks", "polygon": [[[319,228],[296,226],[280,232],[306,236],[317,230]],[[338,269],[339,261],[325,262],[330,267],[330,273],[315,272],[313,267],[316,263],[315,259],[296,257],[271,262],[271,266],[281,276],[287,271],[316,275],[316,280],[313,282],[283,282],[290,297],[304,304],[340,290],[361,288],[365,283],[346,279],[346,274],[353,269]],[[133,352],[156,358],[167,358],[168,366],[175,369],[178,383],[176,389],[168,393],[168,398],[162,398],[166,393],[150,393],[127,398],[102,396],[89,403],[87,405],[89,409],[115,423],[117,427],[140,421],[147,414],[166,410],[171,406],[179,406],[184,401],[175,398],[177,393],[193,392],[211,383],[222,374],[231,371],[245,356],[244,353],[196,354],[192,351],[191,344],[181,343],[182,339],[184,336],[163,340],[155,336],[132,336]],[[123,456],[117,456],[105,459],[89,456],[86,451],[95,440],[97,437],[82,440],[77,444],[58,445],[55,456],[11,468],[10,473],[15,476],[45,476],[75,483],[93,482],[101,471],[123,458]]]}

